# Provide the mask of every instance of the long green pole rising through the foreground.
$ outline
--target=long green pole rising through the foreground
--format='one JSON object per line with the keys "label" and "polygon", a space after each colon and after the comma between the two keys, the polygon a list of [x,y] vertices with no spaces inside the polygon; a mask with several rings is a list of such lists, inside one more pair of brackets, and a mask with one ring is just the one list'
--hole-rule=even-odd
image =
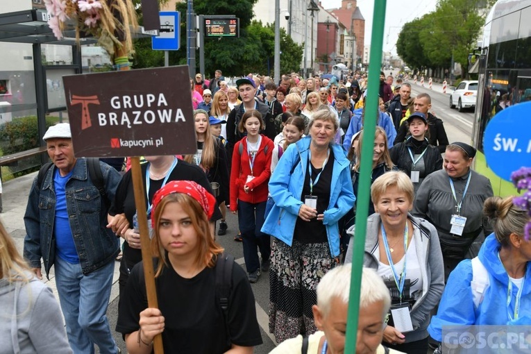
{"label": "long green pole rising through the foreground", "polygon": [[[346,325],[345,353],[354,354],[357,340],[357,325],[360,315],[360,286],[362,283],[363,256],[365,249],[365,233],[369,214],[369,200],[371,196],[371,170],[374,134],[376,132],[376,117],[378,115],[378,83],[380,81],[380,63],[382,62],[382,47],[384,35],[386,0],[376,0],[373,13],[373,29],[371,40],[371,62],[369,64],[369,83],[372,87],[367,92],[364,139],[362,142],[362,156],[360,162],[360,193],[357,195],[356,230],[352,242],[354,253],[352,258],[351,293],[348,300],[348,317]],[[379,20],[379,21],[378,21]]]}

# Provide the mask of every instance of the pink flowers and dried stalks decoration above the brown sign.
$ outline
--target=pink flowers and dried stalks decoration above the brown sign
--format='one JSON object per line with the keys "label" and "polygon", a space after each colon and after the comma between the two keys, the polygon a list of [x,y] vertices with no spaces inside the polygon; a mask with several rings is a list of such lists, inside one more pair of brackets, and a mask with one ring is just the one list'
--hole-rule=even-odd
{"label": "pink flowers and dried stalks decoration above the brown sign", "polygon": [[133,53],[130,26],[138,24],[132,0],[44,0],[44,4],[51,15],[48,24],[59,40],[62,31],[73,25],[76,40],[92,35],[110,56],[118,48]]}

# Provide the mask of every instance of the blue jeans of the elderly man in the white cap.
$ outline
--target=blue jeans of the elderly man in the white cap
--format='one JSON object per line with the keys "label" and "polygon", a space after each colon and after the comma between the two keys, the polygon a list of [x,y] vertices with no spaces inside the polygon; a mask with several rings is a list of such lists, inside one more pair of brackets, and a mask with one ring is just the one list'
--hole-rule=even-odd
{"label": "blue jeans of the elderly man in the white cap", "polygon": [[56,257],[55,267],[57,292],[72,351],[93,354],[96,344],[101,353],[117,353],[106,315],[115,262],[86,276],[80,264],[60,257]]}

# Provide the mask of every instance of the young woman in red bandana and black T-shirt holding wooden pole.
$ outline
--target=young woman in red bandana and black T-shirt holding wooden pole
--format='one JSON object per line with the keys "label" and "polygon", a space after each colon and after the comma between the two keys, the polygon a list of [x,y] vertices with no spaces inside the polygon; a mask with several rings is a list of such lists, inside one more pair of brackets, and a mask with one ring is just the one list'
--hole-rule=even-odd
{"label": "young woman in red bandana and black T-shirt holding wooden pole", "polygon": [[117,331],[129,353],[151,353],[159,334],[165,353],[251,354],[253,346],[262,344],[255,298],[237,264],[230,276],[228,309],[219,304],[216,268],[224,250],[208,224],[214,208],[214,196],[189,180],[171,181],[155,193],[151,248],[158,260],[159,308],[147,307],[139,263],[120,296],[118,312]]}

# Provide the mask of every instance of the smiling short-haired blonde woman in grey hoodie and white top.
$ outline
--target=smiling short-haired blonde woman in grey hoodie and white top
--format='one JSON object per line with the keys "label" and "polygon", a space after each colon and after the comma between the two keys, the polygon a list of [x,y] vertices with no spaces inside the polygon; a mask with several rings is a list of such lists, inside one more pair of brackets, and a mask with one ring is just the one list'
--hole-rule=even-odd
{"label": "smiling short-haired blonde woman in grey hoodie and white top", "polygon": [[[428,351],[428,324],[444,289],[441,245],[435,227],[413,217],[413,184],[389,171],[371,186],[376,210],[367,219],[364,267],[376,269],[391,294],[391,314],[383,340],[404,353]],[[355,226],[348,230],[355,235]],[[351,262],[354,242],[345,262]],[[396,311],[393,311],[396,310]],[[411,326],[404,326],[404,323]]]}

